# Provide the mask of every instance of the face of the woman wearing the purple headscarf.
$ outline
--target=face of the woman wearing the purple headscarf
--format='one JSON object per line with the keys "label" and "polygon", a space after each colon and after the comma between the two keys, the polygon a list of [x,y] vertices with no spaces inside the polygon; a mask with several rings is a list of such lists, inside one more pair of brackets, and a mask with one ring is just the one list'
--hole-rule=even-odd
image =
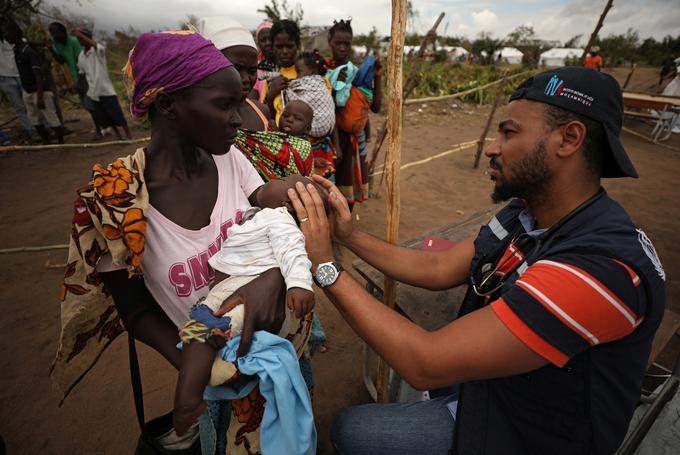
{"label": "face of the woman wearing the purple headscarf", "polygon": [[224,68],[175,96],[174,124],[181,139],[212,155],[224,155],[241,126],[241,78]]}

